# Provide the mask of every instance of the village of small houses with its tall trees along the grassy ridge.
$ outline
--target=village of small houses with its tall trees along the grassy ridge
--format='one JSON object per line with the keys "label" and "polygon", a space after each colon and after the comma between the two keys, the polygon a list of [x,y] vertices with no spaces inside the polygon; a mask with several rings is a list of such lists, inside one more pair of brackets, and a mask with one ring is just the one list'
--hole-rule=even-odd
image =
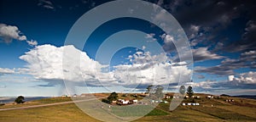
{"label": "village of small houses with its tall trees along the grassy ridge", "polygon": [[[102,93],[105,94],[105,98],[102,98],[102,103],[108,103],[112,106],[125,106],[125,105],[148,105],[148,104],[159,104],[159,103],[171,103],[173,99],[182,99],[182,106],[200,106],[201,103],[205,101],[211,101],[213,99],[222,100],[225,103],[234,103],[234,99],[229,99],[228,97],[213,96],[207,94],[194,93],[192,86],[189,86],[187,90],[180,90],[180,93],[173,92],[163,92],[163,87],[161,86],[148,86],[147,92],[141,93]],[[83,93],[81,95],[74,94],[73,96],[62,95],[61,97],[88,97],[91,94]],[[99,95],[99,94],[97,94]],[[209,104],[209,106],[215,106],[214,104]]]}

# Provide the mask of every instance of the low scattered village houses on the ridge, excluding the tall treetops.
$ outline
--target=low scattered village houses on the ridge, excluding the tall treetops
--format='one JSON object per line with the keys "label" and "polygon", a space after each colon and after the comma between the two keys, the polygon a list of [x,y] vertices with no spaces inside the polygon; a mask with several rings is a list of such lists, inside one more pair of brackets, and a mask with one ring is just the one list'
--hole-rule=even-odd
{"label": "low scattered village houses on the ridge, excluding the tall treetops", "polygon": [[[106,93],[107,94],[107,93]],[[109,94],[109,93],[108,93]],[[61,97],[86,97],[88,94],[81,94],[77,95],[74,94],[73,96],[62,95]],[[212,95],[205,95],[205,94],[197,94],[193,95],[192,97],[186,96],[175,96],[175,93],[166,93],[160,99],[150,98],[150,95],[147,92],[144,93],[116,93],[112,92],[107,98],[102,98],[102,103],[108,103],[110,105],[131,105],[131,104],[144,104],[148,105],[148,103],[171,103],[172,99],[183,98],[183,102],[181,103],[182,106],[200,106],[201,102],[204,99],[212,100],[212,99],[223,99],[226,103],[234,103],[234,99],[224,99],[221,96],[212,96]],[[143,100],[143,98],[147,98],[148,101]],[[202,99],[203,98],[203,99]],[[213,106],[213,105],[212,105]]]}

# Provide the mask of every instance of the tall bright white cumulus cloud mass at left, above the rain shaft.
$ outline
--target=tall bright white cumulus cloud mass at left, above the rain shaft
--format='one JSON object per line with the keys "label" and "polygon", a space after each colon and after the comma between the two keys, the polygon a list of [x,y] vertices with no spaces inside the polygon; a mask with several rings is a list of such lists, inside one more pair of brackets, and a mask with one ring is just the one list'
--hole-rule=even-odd
{"label": "tall bright white cumulus cloud mass at left, above the rain shaft", "polygon": [[[67,50],[67,53],[64,53]],[[75,64],[80,56],[81,65]],[[63,58],[66,60],[63,66]],[[25,55],[20,56],[20,59],[25,60],[28,64],[26,67],[29,73],[37,79],[46,80],[89,80],[95,76],[96,61],[90,59],[86,53],[80,52],[73,46],[55,47],[51,45],[43,45],[33,48]],[[100,64],[98,64],[100,65]],[[81,67],[80,67],[81,66]],[[102,66],[100,66],[101,68]],[[63,72],[68,72],[63,75]]]}

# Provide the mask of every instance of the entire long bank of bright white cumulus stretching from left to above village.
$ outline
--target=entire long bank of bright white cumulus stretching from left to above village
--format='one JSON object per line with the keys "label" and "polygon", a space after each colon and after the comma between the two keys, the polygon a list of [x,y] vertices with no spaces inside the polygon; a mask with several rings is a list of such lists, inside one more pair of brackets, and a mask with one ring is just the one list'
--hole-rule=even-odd
{"label": "entire long bank of bright white cumulus stretching from left to above village", "polygon": [[[76,58],[79,56],[79,58]],[[167,62],[165,54],[150,56],[137,52],[131,55],[132,64],[119,64],[112,71],[84,52],[69,45],[42,45],[20,56],[27,62],[26,72],[41,80],[85,81],[93,86],[167,85],[180,77],[189,80],[191,69],[186,65]]]}

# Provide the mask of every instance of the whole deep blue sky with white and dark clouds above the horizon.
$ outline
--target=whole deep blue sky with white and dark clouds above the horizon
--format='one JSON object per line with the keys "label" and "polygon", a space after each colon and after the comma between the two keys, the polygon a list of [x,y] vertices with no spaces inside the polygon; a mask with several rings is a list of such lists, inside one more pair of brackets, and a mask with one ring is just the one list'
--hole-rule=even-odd
{"label": "whole deep blue sky with white and dark clouds above the horizon", "polygon": [[[134,6],[127,13],[151,14],[152,21],[110,19],[87,35],[115,13],[109,8],[83,21],[88,26],[76,26],[87,40],[75,36],[67,42],[82,15],[108,2],[113,1],[1,0],[0,96],[145,92],[148,85],[177,92],[182,84],[195,92],[255,95],[255,1],[143,1],[168,14],[130,1]],[[176,25],[158,26],[159,21]]]}

